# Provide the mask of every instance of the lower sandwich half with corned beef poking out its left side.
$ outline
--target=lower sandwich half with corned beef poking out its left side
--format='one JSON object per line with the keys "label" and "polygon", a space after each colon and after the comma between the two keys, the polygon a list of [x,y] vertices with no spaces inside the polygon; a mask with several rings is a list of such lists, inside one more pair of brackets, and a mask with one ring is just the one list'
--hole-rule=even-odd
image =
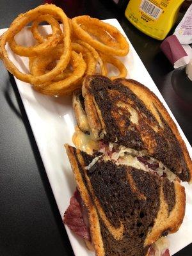
{"label": "lower sandwich half with corned beef poking out its left side", "polygon": [[132,154],[114,161],[107,152],[65,147],[79,195],[77,202],[71,199],[64,223],[97,256],[169,255],[167,248],[155,254],[153,244],[176,232],[184,218],[185,192],[177,177],[160,175]]}

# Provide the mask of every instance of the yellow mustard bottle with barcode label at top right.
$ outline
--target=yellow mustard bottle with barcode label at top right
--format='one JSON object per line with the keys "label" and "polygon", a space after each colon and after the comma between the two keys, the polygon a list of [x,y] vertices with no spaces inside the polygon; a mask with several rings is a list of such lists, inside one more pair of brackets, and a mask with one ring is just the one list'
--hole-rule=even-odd
{"label": "yellow mustard bottle with barcode label at top right", "polygon": [[125,17],[148,36],[163,40],[172,28],[184,0],[130,0]]}

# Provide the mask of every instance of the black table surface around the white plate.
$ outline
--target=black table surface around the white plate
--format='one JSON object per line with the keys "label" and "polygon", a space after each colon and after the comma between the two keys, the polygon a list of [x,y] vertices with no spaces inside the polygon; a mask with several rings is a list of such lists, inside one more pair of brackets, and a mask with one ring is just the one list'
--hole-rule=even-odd
{"label": "black table surface around the white plate", "polygon": [[[41,3],[0,0],[0,29]],[[161,42],[134,28],[111,1],[61,0],[57,4],[65,8],[68,17],[88,14],[118,19],[191,144],[191,88],[185,88],[183,80],[173,86],[178,72],[160,51]],[[74,255],[17,86],[1,61],[0,85],[0,255]],[[176,255],[191,256],[192,245]]]}

